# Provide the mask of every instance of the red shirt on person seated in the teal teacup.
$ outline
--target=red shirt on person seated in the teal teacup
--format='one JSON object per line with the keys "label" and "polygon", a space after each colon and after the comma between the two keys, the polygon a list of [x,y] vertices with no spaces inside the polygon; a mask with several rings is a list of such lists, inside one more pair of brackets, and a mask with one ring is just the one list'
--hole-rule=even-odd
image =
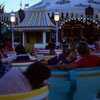
{"label": "red shirt on person seated in the teal teacup", "polygon": [[85,67],[96,67],[100,63],[100,58],[96,55],[84,55],[75,61],[77,67],[85,68]]}

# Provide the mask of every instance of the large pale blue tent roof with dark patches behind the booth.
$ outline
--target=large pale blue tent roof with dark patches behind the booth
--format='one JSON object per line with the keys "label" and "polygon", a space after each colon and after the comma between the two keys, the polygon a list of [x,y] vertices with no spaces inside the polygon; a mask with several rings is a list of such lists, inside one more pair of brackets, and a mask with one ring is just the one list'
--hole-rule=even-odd
{"label": "large pale blue tent roof with dark patches behind the booth", "polygon": [[73,9],[73,11],[78,9],[86,9],[89,5],[91,5],[94,9],[100,9],[100,0],[41,0],[39,3],[29,7],[26,11],[44,7],[45,10],[69,10]]}

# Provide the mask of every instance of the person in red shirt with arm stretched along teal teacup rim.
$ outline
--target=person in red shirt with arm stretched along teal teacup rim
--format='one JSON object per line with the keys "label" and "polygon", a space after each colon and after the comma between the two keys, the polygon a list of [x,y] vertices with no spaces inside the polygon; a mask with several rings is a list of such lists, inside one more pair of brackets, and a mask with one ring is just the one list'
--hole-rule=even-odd
{"label": "person in red shirt with arm stretched along teal teacup rim", "polygon": [[90,55],[87,42],[80,41],[77,46],[77,52],[80,58],[76,59],[71,64],[50,65],[49,68],[60,68],[69,70],[73,68],[96,67],[100,63],[100,58],[96,55]]}

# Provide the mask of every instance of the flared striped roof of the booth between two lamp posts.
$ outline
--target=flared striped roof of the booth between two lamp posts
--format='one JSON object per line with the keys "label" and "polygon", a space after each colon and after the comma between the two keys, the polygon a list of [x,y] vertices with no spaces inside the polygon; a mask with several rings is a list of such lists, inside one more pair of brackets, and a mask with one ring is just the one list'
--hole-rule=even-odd
{"label": "flared striped roof of the booth between two lamp posts", "polygon": [[28,11],[24,20],[14,30],[56,30],[45,11]]}

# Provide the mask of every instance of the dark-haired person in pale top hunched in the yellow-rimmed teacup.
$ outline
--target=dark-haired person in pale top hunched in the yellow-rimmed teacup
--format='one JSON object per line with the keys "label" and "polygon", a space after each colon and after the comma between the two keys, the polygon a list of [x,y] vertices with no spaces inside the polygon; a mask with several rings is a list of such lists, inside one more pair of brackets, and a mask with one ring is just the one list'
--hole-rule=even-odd
{"label": "dark-haired person in pale top hunched in the yellow-rimmed teacup", "polygon": [[50,69],[40,62],[29,65],[25,72],[13,67],[0,79],[0,95],[39,89],[49,85],[46,79],[50,75]]}

